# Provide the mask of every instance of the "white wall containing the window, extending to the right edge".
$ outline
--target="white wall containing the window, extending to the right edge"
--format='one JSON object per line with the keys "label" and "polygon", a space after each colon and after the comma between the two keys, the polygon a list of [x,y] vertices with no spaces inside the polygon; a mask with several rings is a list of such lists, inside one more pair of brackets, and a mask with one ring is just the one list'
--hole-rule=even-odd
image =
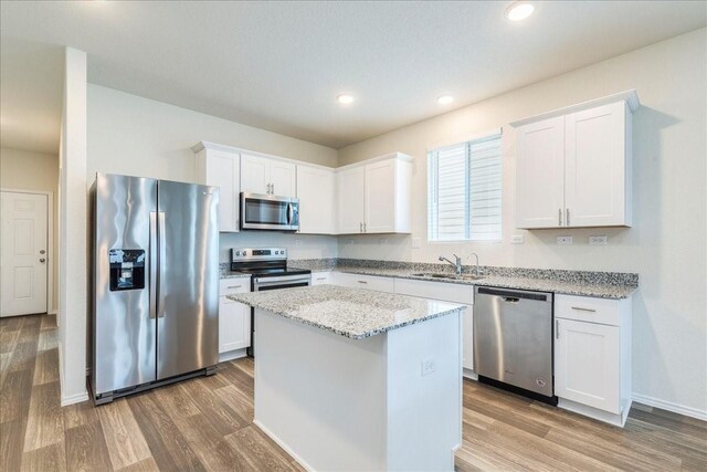
{"label": "white wall containing the window, extending to the right edge", "polygon": [[[339,256],[433,262],[475,251],[486,265],[637,272],[634,392],[707,415],[706,71],[701,29],[340,149],[339,165],[391,151],[415,157],[412,237],[421,247],[412,249],[410,237],[389,237],[388,244],[342,237]],[[508,123],[630,88],[643,105],[633,122],[634,227],[516,230],[516,139]],[[504,241],[428,243],[426,150],[499,126]],[[511,234],[524,234],[525,244],[511,245]],[[573,235],[574,245],[556,245],[559,234]],[[590,234],[608,234],[609,245],[589,247]]]}

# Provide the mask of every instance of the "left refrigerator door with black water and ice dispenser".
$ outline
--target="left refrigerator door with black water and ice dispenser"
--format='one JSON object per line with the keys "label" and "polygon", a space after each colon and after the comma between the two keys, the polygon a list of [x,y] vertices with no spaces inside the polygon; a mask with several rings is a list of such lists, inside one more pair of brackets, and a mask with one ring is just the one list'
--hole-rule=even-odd
{"label": "left refrigerator door with black water and ice dispenser", "polygon": [[[98,396],[155,380],[156,319],[149,310],[155,287],[148,274],[154,262],[150,213],[157,209],[157,180],[99,174],[92,204],[92,387]],[[122,281],[122,290],[112,290],[112,272]],[[135,283],[138,275],[143,279]]]}

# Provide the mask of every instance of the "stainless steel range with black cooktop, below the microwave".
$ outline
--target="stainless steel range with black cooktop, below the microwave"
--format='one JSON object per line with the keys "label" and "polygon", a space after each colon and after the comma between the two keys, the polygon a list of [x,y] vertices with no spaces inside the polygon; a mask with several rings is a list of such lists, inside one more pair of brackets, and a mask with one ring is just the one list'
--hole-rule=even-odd
{"label": "stainless steel range with black cooktop, below the microwave", "polygon": [[[284,248],[241,248],[231,249],[231,271],[251,274],[251,291],[292,289],[309,286],[312,271],[308,269],[287,269],[287,250]],[[255,310],[251,308],[251,347],[253,356],[255,343]]]}

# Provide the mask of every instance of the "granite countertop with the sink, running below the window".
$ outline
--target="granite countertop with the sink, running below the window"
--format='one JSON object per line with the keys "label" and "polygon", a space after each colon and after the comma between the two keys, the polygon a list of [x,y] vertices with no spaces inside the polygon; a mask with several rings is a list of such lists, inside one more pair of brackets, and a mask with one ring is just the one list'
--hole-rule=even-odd
{"label": "granite countertop with the sink, running below the window", "polygon": [[[315,262],[313,265],[309,261],[292,261],[291,264],[294,268],[313,269],[315,271],[328,270],[350,274],[423,280],[472,286],[483,285],[502,289],[531,290],[538,292],[553,292],[556,294],[593,296],[613,300],[626,298],[639,287],[637,274],[627,273],[482,268],[481,279],[441,279],[414,274],[425,272],[453,275],[453,273],[450,272],[453,268],[446,268],[446,265],[443,264],[386,261],[360,261],[361,265],[358,265],[359,261],[356,262],[357,265],[348,265],[346,262],[338,262],[335,264],[320,264],[319,262]],[[365,264],[368,264],[368,266]],[[471,268],[465,266],[464,269],[465,275],[468,274],[468,270]]]}

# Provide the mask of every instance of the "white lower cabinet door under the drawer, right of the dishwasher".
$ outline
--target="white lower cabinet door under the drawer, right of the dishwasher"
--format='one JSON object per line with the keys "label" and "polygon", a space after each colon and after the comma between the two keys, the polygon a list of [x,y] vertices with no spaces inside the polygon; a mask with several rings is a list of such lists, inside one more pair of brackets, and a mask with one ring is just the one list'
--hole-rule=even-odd
{"label": "white lower cabinet door under the drawer, right of the dishwasher", "polygon": [[555,395],[621,413],[620,328],[556,318]]}

